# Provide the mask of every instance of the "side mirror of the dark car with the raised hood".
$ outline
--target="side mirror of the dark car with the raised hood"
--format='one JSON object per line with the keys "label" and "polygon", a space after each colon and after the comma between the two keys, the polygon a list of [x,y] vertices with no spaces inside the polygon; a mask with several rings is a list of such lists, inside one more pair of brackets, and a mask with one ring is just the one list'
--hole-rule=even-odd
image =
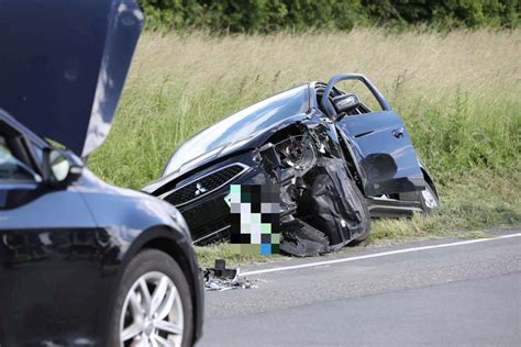
{"label": "side mirror of the dark car with the raised hood", "polygon": [[73,154],[56,148],[47,148],[43,156],[44,183],[49,186],[68,184],[81,176],[81,160]]}

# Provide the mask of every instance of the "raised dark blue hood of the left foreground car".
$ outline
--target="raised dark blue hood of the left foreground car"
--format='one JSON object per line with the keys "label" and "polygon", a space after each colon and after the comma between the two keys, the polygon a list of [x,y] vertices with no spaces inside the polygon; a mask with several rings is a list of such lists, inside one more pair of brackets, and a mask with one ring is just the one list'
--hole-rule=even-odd
{"label": "raised dark blue hood of the left foreground car", "polygon": [[0,0],[0,109],[87,156],[109,133],[142,23],[135,0]]}

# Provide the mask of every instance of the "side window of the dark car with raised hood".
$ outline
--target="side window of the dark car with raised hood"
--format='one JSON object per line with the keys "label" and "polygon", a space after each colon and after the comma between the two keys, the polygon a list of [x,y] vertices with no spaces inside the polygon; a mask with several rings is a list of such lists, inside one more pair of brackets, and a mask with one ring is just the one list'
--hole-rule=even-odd
{"label": "side window of the dark car with raised hood", "polygon": [[0,136],[0,182],[38,181],[38,176],[25,164],[14,157]]}

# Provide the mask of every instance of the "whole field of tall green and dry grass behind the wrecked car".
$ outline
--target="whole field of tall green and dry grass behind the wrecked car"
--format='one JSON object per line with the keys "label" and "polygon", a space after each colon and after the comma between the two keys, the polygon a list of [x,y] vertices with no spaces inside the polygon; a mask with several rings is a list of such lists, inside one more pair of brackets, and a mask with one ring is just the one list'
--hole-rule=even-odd
{"label": "whole field of tall green and dry grass behind the wrecked car", "polygon": [[89,167],[138,189],[202,127],[342,71],[367,75],[386,94],[441,193],[439,213],[377,222],[374,239],[521,225],[520,31],[145,34],[112,131]]}

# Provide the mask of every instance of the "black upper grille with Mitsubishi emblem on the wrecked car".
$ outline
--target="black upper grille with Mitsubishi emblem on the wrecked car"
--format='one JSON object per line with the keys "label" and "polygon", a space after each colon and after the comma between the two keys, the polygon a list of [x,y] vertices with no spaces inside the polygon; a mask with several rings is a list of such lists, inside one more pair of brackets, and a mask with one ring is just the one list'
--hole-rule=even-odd
{"label": "black upper grille with Mitsubishi emblem on the wrecked car", "polygon": [[174,190],[174,192],[164,199],[176,206],[188,203],[224,186],[241,175],[245,169],[246,167],[239,164],[224,167]]}

